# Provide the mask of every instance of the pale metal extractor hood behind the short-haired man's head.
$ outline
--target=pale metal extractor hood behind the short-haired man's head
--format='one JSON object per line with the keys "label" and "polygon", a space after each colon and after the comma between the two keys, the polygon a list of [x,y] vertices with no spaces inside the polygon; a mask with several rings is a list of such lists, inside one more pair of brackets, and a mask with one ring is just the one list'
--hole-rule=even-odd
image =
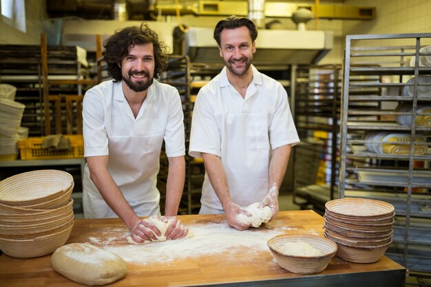
{"label": "pale metal extractor hood behind the short-haired man's head", "polygon": [[[260,29],[253,63],[316,64],[332,47],[332,32]],[[222,61],[213,28],[189,28],[185,34],[185,53],[196,63]]]}

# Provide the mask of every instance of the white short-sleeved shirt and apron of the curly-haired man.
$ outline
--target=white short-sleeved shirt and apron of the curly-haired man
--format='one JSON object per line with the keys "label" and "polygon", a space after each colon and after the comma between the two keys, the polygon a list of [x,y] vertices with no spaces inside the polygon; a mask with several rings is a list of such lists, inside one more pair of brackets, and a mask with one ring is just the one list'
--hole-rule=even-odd
{"label": "white short-sleeved shirt and apron of the curly-haired man", "polygon": [[[134,118],[121,83],[105,81],[89,89],[83,100],[84,156],[109,156],[109,174],[127,202],[132,207],[146,204],[153,210],[160,200],[156,180],[163,140],[168,157],[185,155],[183,118],[175,87],[154,81]],[[92,195],[86,200],[102,199],[90,180],[87,166],[83,187],[84,193]],[[87,206],[101,209],[100,203]],[[106,207],[109,209],[107,204]],[[88,212],[92,214],[90,217],[106,214],[106,211]]]}

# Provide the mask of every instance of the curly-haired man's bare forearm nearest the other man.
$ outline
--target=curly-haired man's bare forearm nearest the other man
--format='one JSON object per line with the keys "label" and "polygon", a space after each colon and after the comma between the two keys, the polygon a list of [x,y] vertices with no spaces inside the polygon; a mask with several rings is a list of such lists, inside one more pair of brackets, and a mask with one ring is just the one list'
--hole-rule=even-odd
{"label": "curly-haired man's bare forearm nearest the other man", "polygon": [[165,215],[176,216],[180,205],[185,182],[185,158],[176,156],[168,158],[169,169],[166,184]]}

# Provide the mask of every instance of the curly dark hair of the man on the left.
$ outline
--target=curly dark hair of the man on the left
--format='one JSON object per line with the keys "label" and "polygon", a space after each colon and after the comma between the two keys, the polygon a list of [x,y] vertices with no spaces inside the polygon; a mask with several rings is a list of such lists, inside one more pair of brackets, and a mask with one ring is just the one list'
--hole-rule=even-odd
{"label": "curly dark hair of the man on the left", "polygon": [[154,47],[154,78],[158,78],[168,64],[167,52],[169,47],[159,41],[158,34],[148,27],[147,23],[141,23],[140,27],[127,27],[117,30],[104,43],[103,60],[107,63],[107,72],[114,78],[114,82],[121,81],[121,68],[118,66],[129,53],[129,47],[153,43]]}

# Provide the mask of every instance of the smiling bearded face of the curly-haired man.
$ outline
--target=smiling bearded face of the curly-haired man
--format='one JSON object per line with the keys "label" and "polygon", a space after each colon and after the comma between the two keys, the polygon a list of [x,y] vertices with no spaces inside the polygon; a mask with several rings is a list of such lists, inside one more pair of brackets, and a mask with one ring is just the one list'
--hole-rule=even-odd
{"label": "smiling bearded face of the curly-haired man", "polygon": [[153,44],[134,45],[121,61],[123,83],[134,92],[144,92],[154,81]]}

